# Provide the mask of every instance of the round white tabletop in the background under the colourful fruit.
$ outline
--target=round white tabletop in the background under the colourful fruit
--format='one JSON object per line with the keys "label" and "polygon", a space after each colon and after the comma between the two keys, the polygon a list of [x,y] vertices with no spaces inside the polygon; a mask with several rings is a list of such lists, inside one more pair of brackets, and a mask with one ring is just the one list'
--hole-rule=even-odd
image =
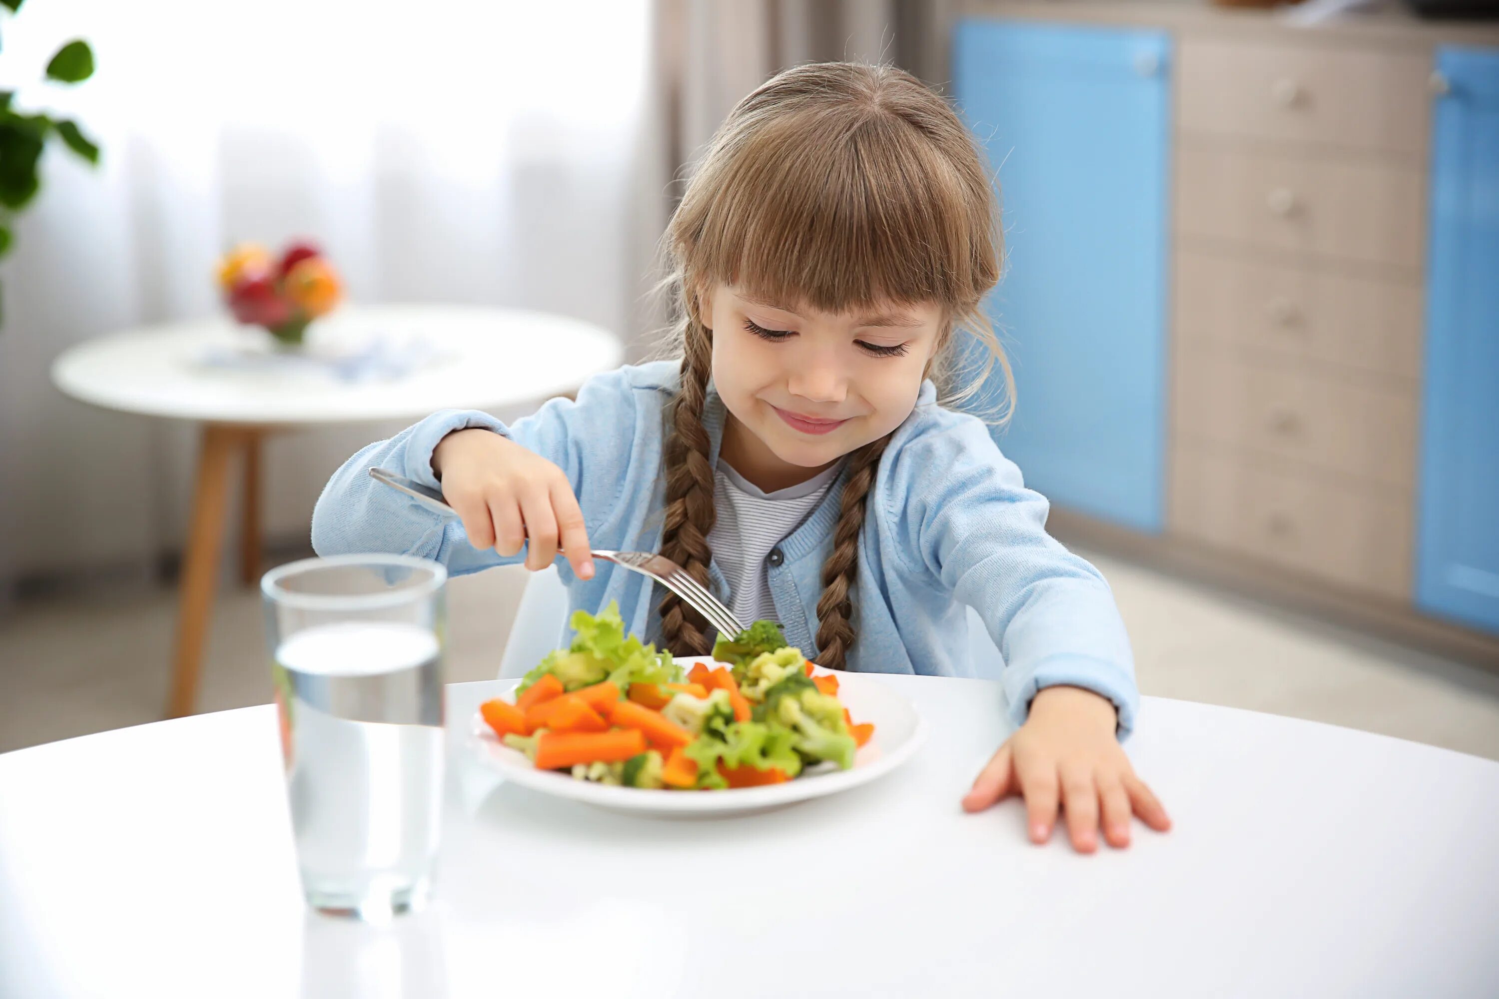
{"label": "round white tabletop in the background under the colourful fruit", "polygon": [[[324,365],[270,356],[270,335],[208,319],[100,337],[66,350],[52,382],[127,413],[246,425],[408,419],[439,409],[496,409],[577,388],[624,359],[619,337],[564,316],[453,306],[346,307],[309,331],[331,356],[372,338],[424,347],[400,377],[343,380]],[[243,355],[237,367],[210,355]]]}

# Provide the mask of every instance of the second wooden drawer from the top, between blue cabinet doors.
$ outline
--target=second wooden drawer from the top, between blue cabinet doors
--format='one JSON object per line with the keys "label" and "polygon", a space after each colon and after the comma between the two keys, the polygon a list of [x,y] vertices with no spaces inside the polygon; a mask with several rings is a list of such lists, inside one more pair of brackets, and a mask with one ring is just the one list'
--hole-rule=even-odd
{"label": "second wooden drawer from the top, between blue cabinet doors", "polygon": [[1417,165],[1267,153],[1183,139],[1177,232],[1268,253],[1393,265],[1417,273],[1424,246]]}

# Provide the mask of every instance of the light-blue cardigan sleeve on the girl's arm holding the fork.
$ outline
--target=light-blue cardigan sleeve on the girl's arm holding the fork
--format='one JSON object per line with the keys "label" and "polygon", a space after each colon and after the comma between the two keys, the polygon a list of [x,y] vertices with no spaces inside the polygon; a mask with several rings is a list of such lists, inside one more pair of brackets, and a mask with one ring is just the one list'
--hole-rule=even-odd
{"label": "light-blue cardigan sleeve on the girl's arm holding the fork", "polygon": [[[432,464],[438,445],[454,431],[483,428],[561,469],[585,521],[594,526],[609,514],[610,497],[618,496],[615,479],[624,473],[634,446],[639,422],[636,395],[628,370],[622,368],[591,379],[579,391],[577,401],[555,398],[510,425],[477,410],[433,413],[343,463],[318,497],[312,514],[312,547],[322,556],[355,551],[415,554],[442,562],[454,575],[519,563],[525,559],[523,550],[505,556],[492,547],[475,548],[459,520],[445,518],[381,485],[369,476],[369,469],[387,469],[441,490],[442,482]],[[448,500],[453,502],[453,497]],[[490,538],[484,542],[495,544]]]}

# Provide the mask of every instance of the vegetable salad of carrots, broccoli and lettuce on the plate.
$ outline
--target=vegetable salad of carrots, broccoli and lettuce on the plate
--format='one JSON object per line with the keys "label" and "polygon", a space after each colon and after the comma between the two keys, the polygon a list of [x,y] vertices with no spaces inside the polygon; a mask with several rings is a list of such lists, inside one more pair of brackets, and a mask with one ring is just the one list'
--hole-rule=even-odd
{"label": "vegetable salad of carrots, broccoli and lettuce on the plate", "polygon": [[874,735],[838,701],[838,677],[812,675],[772,622],[720,638],[718,665],[690,672],[627,635],[615,604],[574,613],[573,631],[573,644],[528,672],[514,701],[480,707],[538,770],[628,788],[751,788],[824,762],[848,770]]}

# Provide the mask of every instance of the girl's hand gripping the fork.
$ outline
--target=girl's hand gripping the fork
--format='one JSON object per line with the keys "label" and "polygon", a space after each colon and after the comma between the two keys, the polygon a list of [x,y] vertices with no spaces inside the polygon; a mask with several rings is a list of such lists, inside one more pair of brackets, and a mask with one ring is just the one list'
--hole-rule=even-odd
{"label": "girl's hand gripping the fork", "polygon": [[432,470],[475,548],[493,547],[508,557],[529,539],[532,572],[552,565],[561,548],[580,580],[594,578],[583,511],[562,469],[493,430],[472,427],[438,443]]}

